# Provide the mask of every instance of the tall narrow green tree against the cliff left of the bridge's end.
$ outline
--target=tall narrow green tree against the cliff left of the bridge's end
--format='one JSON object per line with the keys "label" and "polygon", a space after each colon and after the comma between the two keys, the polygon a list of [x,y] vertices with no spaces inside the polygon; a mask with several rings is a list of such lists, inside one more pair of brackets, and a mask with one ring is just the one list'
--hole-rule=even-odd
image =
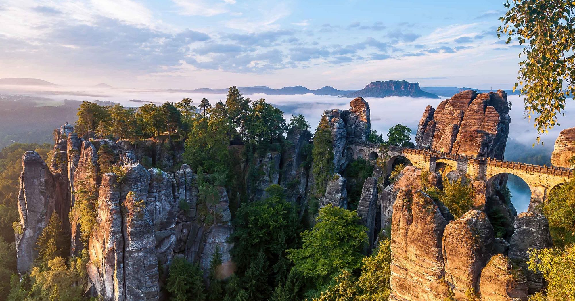
{"label": "tall narrow green tree against the cliff left of the bridge's end", "polygon": [[316,196],[320,197],[325,193],[325,186],[333,171],[333,141],[325,114],[321,117],[313,137],[312,158]]}

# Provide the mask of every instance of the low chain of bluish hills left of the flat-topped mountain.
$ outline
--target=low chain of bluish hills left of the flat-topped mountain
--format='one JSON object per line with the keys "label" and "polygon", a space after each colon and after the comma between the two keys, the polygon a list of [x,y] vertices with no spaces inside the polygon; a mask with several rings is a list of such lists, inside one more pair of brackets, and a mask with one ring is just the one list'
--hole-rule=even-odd
{"label": "low chain of bluish hills left of the flat-topped mountain", "polygon": [[[254,87],[237,87],[240,92],[244,95],[252,94],[267,94],[267,95],[301,95],[301,94],[315,94],[315,95],[332,95],[340,96],[348,94],[356,90],[338,90],[333,87],[322,87],[316,90],[309,90],[304,86],[293,86],[293,87],[283,87],[279,89],[272,89],[266,86],[254,86]],[[228,89],[211,89],[211,88],[198,88],[194,90],[182,90],[182,89],[168,89],[168,92],[188,92],[188,93],[205,93],[205,94],[226,94]]]}

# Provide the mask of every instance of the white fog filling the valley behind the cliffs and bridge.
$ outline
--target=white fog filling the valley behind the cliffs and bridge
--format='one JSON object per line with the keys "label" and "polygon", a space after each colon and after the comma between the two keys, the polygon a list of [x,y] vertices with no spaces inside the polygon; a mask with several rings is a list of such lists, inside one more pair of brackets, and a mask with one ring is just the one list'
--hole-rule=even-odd
{"label": "white fog filling the valley behind the cliffs and bridge", "polygon": [[[191,98],[199,104],[202,98],[207,98],[212,105],[218,101],[225,102],[225,94],[190,94],[177,90],[144,90],[127,88],[96,88],[96,87],[1,87],[3,95],[28,95],[31,97],[45,98],[38,102],[38,106],[59,106],[64,100],[75,101],[105,101],[120,103],[124,106],[140,106],[147,102],[161,104],[163,102],[178,102],[182,98]],[[312,129],[319,123],[323,111],[328,109],[347,109],[350,98],[340,98],[329,95],[247,95],[252,100],[265,98],[267,102],[279,107],[285,113],[286,120],[294,114],[302,114],[309,121]],[[412,129],[412,139],[419,119],[425,106],[437,105],[446,99],[412,98],[412,97],[386,97],[365,98],[371,109],[371,128],[385,134],[388,129],[396,124],[403,124]],[[509,140],[505,152],[505,160],[522,161],[531,164],[547,164],[555,138],[563,128],[575,126],[575,119],[559,116],[556,126],[549,134],[542,136],[542,144],[532,146],[536,138],[536,130],[532,122],[524,117],[523,102],[517,95],[509,95],[508,101],[512,102],[511,125],[509,125]],[[572,107],[568,104],[567,109]],[[566,111],[568,113],[568,111]],[[72,123],[73,121],[70,121]],[[54,125],[57,126],[57,125]],[[518,177],[511,177],[508,184],[512,192],[512,202],[517,212],[527,210],[530,200],[530,191],[525,183]]]}

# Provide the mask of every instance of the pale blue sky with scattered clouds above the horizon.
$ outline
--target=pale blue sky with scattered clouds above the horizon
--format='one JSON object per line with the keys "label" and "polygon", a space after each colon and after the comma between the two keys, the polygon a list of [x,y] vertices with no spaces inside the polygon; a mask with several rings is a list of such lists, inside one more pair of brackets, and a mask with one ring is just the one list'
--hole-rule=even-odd
{"label": "pale blue sky with scattered clouds above the horizon", "polygon": [[0,78],[137,88],[511,88],[493,1],[0,0]]}

